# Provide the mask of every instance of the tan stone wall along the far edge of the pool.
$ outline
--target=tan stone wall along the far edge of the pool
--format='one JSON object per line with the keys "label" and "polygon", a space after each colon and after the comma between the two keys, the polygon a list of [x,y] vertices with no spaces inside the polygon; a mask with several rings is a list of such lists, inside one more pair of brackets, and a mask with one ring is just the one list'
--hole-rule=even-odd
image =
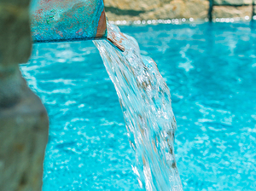
{"label": "tan stone wall along the far edge of the pool", "polygon": [[195,20],[256,14],[256,0],[104,0],[108,20]]}

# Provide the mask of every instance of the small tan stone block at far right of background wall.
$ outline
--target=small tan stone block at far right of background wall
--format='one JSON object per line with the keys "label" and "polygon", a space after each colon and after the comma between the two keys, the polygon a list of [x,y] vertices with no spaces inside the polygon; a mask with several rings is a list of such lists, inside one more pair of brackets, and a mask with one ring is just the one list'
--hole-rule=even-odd
{"label": "small tan stone block at far right of background wall", "polygon": [[249,6],[213,6],[212,9],[212,19],[216,18],[235,18],[245,16],[252,17],[253,14],[252,5]]}

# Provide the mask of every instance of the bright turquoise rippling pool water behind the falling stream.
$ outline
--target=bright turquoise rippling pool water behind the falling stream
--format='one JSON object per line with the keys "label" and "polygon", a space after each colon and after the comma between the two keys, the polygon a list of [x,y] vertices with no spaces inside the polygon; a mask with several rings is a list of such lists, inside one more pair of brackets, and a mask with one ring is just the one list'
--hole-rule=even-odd
{"label": "bright turquoise rippling pool water behind the falling stream", "polygon": [[[157,62],[184,190],[256,189],[256,26],[122,26]],[[28,84],[49,112],[44,191],[139,190],[118,96],[92,42],[35,44]]]}

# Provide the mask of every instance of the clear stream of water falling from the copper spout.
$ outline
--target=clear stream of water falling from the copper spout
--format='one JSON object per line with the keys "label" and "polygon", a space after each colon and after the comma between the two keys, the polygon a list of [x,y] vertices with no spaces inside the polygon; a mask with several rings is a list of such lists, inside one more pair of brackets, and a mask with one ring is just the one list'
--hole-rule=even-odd
{"label": "clear stream of water falling from the copper spout", "polygon": [[108,23],[108,38],[125,48],[114,48],[105,40],[97,49],[119,96],[131,147],[137,164],[132,166],[146,190],[183,190],[174,156],[171,95],[155,62],[140,55],[137,41]]}

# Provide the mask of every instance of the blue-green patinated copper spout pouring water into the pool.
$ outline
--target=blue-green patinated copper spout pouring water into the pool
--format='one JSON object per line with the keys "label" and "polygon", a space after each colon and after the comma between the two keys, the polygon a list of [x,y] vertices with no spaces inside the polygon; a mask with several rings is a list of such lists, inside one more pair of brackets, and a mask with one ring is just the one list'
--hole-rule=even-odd
{"label": "blue-green patinated copper spout pouring water into the pool", "polygon": [[106,39],[102,0],[32,0],[34,43]]}

